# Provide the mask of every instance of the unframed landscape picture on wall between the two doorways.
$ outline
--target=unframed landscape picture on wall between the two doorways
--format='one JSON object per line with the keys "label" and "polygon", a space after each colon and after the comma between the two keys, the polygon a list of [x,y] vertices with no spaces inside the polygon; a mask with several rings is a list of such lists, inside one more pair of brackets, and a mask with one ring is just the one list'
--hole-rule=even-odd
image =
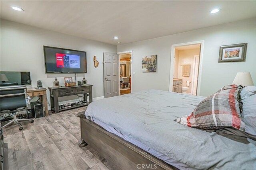
{"label": "unframed landscape picture on wall between the two doorways", "polygon": [[156,55],[142,57],[142,72],[156,72]]}

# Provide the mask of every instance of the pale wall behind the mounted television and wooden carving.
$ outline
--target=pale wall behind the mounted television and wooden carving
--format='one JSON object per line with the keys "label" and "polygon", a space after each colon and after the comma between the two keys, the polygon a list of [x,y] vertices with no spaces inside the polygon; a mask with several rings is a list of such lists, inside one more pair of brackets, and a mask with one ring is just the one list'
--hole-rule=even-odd
{"label": "pale wall behind the mounted television and wooden carving", "polygon": [[[46,88],[53,86],[54,77],[58,78],[60,85],[64,85],[64,77],[73,77],[74,80],[74,74],[45,74],[43,45],[86,51],[88,73],[77,74],[77,81],[81,81],[85,76],[87,83],[94,85],[92,86],[93,98],[104,96],[103,52],[116,53],[116,45],[1,20],[0,70],[30,71],[33,87],[36,87],[37,80],[41,80]],[[94,68],[94,55],[100,63],[98,68]],[[72,98],[68,99],[72,100]],[[49,103],[49,91],[47,92],[47,100]]]}

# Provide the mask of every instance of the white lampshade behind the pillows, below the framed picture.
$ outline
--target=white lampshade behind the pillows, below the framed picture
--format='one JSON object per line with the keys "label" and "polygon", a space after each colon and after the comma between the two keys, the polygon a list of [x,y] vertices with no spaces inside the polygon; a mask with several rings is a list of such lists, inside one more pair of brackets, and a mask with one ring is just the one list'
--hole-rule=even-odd
{"label": "white lampshade behind the pillows, below the framed picture", "polygon": [[232,84],[241,86],[253,86],[252,76],[250,72],[238,72]]}

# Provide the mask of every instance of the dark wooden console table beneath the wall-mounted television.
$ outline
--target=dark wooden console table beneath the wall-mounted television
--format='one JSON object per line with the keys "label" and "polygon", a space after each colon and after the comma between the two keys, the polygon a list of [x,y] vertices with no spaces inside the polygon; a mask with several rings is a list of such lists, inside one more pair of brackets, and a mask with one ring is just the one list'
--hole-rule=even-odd
{"label": "dark wooden console table beneath the wall-mounted television", "polygon": [[[93,85],[91,85],[91,84],[87,84],[84,86],[73,86],[73,87],[65,87],[65,86],[61,86],[58,88],[48,87],[48,89],[50,90],[50,97],[51,97],[51,109],[55,113],[59,113],[60,111],[73,109],[76,107],[87,106],[88,104],[90,104],[92,102],[92,86]],[[72,107],[68,107],[68,108],[64,108],[64,109],[59,109],[59,97],[83,94],[84,100],[86,101],[87,93],[89,93],[89,98],[90,98],[89,103],[79,105],[79,106],[72,106]]]}

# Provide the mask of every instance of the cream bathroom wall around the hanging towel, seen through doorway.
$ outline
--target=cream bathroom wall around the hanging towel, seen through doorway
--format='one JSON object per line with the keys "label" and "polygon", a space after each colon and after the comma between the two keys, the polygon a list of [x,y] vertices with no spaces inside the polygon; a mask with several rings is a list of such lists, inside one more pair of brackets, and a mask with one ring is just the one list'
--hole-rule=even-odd
{"label": "cream bathroom wall around the hanging towel, seen through doorway", "polygon": [[[189,49],[189,50],[180,50],[179,51],[179,62],[178,62],[178,78],[183,79],[183,87],[186,87],[186,82],[189,81],[192,83],[193,76],[193,66],[194,66],[194,56],[199,55],[200,49]],[[182,76],[182,66],[181,64],[190,64],[190,74],[188,77]],[[192,84],[189,84],[189,89],[187,93],[191,93]]]}

